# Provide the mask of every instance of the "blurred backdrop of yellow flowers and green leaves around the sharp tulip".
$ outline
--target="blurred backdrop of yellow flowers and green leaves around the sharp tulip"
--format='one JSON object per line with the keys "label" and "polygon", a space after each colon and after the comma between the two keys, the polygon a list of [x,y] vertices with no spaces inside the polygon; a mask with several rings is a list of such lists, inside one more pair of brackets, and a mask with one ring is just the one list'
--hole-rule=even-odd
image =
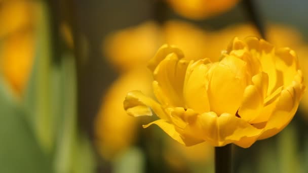
{"label": "blurred backdrop of yellow flowers and green leaves around the sharp tulip", "polygon": [[[184,147],[155,117],[146,63],[165,44],[218,61],[233,37],[295,50],[308,77],[308,1],[0,0],[0,172],[214,172],[213,147]],[[235,172],[308,172],[308,94],[273,138],[234,146]]]}

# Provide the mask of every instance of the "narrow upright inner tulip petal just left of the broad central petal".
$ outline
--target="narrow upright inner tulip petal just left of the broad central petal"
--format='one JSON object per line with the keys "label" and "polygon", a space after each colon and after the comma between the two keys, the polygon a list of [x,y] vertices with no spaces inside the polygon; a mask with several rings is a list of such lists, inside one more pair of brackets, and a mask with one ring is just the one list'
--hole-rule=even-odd
{"label": "narrow upright inner tulip petal just left of the broad central petal", "polygon": [[204,63],[208,63],[208,60],[199,60],[188,65],[183,88],[186,107],[199,113],[210,111],[207,93],[209,66]]}

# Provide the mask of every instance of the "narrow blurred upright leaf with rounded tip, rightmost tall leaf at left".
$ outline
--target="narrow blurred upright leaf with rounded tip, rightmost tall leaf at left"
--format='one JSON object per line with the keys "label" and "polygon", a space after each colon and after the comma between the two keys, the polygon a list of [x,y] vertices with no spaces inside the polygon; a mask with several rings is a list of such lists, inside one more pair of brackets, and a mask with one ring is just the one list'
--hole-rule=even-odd
{"label": "narrow blurred upright leaf with rounded tip, rightmost tall leaf at left", "polygon": [[70,172],[72,167],[73,144],[76,138],[76,89],[74,59],[70,54],[61,59],[61,91],[63,112],[59,124],[55,171]]}

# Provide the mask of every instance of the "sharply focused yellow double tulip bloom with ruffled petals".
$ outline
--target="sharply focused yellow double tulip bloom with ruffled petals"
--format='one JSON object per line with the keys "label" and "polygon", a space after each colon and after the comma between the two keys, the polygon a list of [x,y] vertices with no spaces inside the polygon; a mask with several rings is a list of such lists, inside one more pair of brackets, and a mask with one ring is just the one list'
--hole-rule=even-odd
{"label": "sharply focused yellow double tulip bloom with ruffled petals", "polygon": [[153,110],[160,119],[144,127],[157,124],[186,146],[247,148],[272,137],[290,122],[305,89],[295,52],[256,37],[234,38],[214,63],[164,45],[148,67],[158,102],[133,91],[124,108],[131,116]]}

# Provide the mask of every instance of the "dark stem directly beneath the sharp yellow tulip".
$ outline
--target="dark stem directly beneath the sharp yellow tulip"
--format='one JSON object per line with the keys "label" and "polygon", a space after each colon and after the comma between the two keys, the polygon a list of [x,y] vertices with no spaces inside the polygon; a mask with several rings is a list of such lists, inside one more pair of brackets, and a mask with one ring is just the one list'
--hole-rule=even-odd
{"label": "dark stem directly beneath the sharp yellow tulip", "polygon": [[215,173],[232,172],[232,144],[215,147]]}

